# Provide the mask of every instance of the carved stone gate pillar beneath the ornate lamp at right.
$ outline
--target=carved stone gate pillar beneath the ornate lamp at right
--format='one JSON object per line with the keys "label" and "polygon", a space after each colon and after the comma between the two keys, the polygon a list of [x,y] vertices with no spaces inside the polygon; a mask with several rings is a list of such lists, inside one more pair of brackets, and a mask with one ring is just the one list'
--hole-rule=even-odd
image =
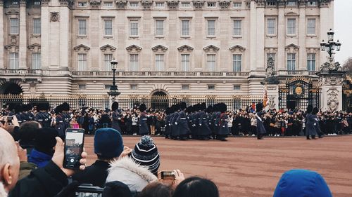
{"label": "carved stone gate pillar beneath the ornate lamp at right", "polygon": [[320,106],[322,111],[342,110],[342,83],[345,72],[320,72],[319,85],[321,88]]}

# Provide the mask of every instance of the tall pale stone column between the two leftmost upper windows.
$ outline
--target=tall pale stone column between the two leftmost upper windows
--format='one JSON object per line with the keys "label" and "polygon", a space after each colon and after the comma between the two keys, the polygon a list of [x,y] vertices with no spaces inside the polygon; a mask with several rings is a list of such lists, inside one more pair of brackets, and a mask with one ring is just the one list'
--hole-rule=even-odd
{"label": "tall pale stone column between the two leftmost upper windows", "polygon": [[[3,15],[1,15],[2,17]],[[27,69],[27,13],[26,1],[20,1],[20,69]]]}

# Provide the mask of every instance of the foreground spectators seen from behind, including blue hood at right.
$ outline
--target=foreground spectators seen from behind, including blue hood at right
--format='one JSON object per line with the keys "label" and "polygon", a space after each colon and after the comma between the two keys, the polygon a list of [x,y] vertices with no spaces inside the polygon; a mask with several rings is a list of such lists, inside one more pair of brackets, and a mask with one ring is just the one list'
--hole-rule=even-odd
{"label": "foreground spectators seen from behind, including blue hood at right", "polygon": [[[20,125],[16,117],[12,123],[11,131],[5,125],[0,128],[0,197],[220,196],[210,179],[186,178],[180,170],[163,174],[158,147],[149,135],[131,149],[124,146],[118,130],[99,128],[94,134],[96,161],[86,166],[87,153],[82,152],[80,170],[70,170],[63,165],[64,144],[58,130],[37,121]],[[332,193],[318,172],[289,170],[275,189],[274,197],[279,196],[331,197]]]}

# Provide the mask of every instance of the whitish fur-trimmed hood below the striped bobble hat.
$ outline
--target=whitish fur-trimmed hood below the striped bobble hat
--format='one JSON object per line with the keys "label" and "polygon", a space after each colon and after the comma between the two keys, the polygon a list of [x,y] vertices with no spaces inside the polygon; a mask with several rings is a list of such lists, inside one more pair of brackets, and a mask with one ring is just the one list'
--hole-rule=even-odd
{"label": "whitish fur-trimmed hood below the striped bobble hat", "polygon": [[134,163],[128,156],[112,161],[110,165],[106,182],[123,182],[131,191],[142,191],[146,184],[158,181],[148,168]]}

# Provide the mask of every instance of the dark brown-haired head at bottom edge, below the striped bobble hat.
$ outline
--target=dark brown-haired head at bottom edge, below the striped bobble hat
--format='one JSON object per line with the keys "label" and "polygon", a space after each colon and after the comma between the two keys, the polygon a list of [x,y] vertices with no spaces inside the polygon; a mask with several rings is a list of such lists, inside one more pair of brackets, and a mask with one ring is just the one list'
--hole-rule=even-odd
{"label": "dark brown-haired head at bottom edge, below the striped bobble hat", "polygon": [[161,182],[153,182],[148,184],[138,197],[172,197],[173,190],[170,186]]}

